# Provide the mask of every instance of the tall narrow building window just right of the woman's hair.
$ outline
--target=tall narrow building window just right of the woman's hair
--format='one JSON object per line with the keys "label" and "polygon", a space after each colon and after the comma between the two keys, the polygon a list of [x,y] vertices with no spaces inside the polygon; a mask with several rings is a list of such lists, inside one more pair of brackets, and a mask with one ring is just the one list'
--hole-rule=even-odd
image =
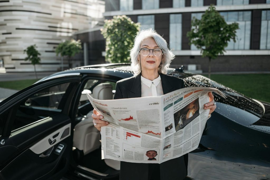
{"label": "tall narrow building window just right of the woman's hair", "polygon": [[170,49],[181,50],[182,43],[182,14],[170,15]]}

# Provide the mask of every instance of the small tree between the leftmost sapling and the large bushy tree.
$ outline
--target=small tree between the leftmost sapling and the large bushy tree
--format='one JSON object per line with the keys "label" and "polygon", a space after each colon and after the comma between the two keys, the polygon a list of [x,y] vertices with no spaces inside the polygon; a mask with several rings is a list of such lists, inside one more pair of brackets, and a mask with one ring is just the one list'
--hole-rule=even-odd
{"label": "small tree between the leftmost sapling and the large bushy tree", "polygon": [[68,56],[68,64],[69,68],[71,67],[70,59],[75,56],[75,54],[82,52],[82,43],[80,40],[67,40],[65,42],[60,43],[55,49],[56,55],[61,55],[61,63],[62,63],[62,71],[63,71],[63,57]]}

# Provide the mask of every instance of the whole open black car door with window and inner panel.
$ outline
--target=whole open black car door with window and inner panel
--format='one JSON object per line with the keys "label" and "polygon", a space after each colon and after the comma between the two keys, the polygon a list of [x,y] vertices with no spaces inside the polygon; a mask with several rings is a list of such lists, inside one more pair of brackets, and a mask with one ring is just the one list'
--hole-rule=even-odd
{"label": "whole open black car door with window and inner panel", "polygon": [[0,179],[60,179],[67,171],[69,111],[80,79],[38,82],[0,103]]}

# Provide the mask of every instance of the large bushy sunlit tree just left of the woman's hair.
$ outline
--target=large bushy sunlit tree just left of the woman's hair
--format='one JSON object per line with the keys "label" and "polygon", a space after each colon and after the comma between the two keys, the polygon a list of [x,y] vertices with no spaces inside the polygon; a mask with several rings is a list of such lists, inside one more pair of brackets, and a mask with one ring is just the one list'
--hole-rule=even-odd
{"label": "large bushy sunlit tree just left of the woman's hair", "polygon": [[129,50],[133,47],[134,37],[139,31],[139,23],[127,16],[113,16],[105,20],[101,34],[106,39],[105,60],[110,63],[129,63]]}

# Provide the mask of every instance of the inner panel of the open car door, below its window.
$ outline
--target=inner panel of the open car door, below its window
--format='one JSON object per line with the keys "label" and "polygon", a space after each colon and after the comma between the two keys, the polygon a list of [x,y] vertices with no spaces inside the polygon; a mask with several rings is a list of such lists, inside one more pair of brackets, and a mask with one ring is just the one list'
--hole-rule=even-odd
{"label": "inner panel of the open car door, below its window", "polygon": [[[65,137],[60,139],[66,129],[68,129],[68,133],[65,133]],[[53,138],[57,134],[58,136]],[[49,139],[56,141],[50,144]],[[13,144],[13,146],[5,146],[5,148],[9,147],[10,151],[4,150],[7,158],[2,164],[1,179],[48,178],[54,174],[56,168],[61,169],[67,165],[63,162],[68,162],[70,151],[65,152],[65,150],[67,147],[71,148],[70,141],[70,119],[67,115],[61,114],[11,133],[6,144]],[[60,153],[57,153],[55,150],[59,144],[64,147]],[[48,157],[40,157],[51,147],[53,150]],[[62,167],[57,167],[59,165]],[[14,173],[15,171],[16,173]]]}

